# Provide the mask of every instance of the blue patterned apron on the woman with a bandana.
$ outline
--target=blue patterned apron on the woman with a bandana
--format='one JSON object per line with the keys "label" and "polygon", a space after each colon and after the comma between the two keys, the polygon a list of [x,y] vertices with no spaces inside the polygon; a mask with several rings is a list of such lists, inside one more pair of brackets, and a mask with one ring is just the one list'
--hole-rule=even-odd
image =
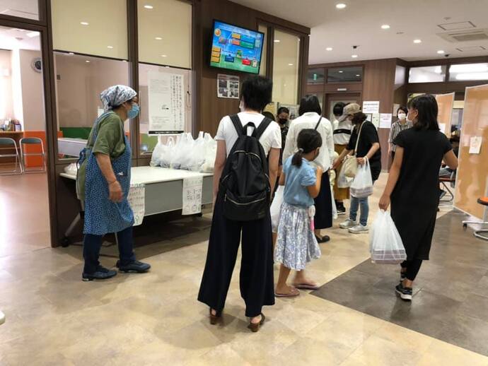
{"label": "blue patterned apron on the woman with a bandana", "polygon": [[[102,114],[93,125],[94,141],[98,134],[98,123],[110,113],[113,112]],[[88,159],[86,162],[84,234],[105,235],[109,232],[120,232],[134,225],[134,213],[127,201],[130,189],[132,149],[125,134],[124,143],[124,153],[119,158],[112,160],[112,169],[122,187],[122,201],[118,203],[110,201],[107,180],[98,167],[91,148],[84,148],[80,153],[80,165]]]}

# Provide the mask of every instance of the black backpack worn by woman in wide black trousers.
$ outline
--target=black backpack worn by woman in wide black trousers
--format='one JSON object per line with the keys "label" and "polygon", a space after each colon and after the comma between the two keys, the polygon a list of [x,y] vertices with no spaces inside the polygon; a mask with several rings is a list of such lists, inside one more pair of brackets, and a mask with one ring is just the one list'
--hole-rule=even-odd
{"label": "black backpack worn by woman in wide black trousers", "polygon": [[[243,126],[237,114],[231,116],[231,121],[238,139],[220,179],[223,216],[236,221],[259,220],[269,212],[271,199],[268,161],[260,137],[272,120],[265,117],[257,128],[252,122]],[[248,127],[254,127],[251,136]]]}

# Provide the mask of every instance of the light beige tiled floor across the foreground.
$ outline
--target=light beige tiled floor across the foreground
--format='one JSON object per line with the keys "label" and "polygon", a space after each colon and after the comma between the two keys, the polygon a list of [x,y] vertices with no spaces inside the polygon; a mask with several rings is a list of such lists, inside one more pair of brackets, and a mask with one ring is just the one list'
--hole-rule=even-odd
{"label": "light beige tiled floor across the foreground", "polygon": [[[136,248],[153,265],[151,272],[108,282],[80,281],[76,246],[0,258],[0,309],[7,317],[0,326],[0,365],[488,366],[480,354],[306,292],[277,299],[265,309],[269,321],[250,333],[238,272],[223,325],[210,326],[208,309],[196,301],[208,224],[202,218],[161,225],[163,242]],[[367,235],[337,228],[329,234],[332,242],[309,266],[320,283],[368,258]],[[115,263],[110,256],[101,260]]]}

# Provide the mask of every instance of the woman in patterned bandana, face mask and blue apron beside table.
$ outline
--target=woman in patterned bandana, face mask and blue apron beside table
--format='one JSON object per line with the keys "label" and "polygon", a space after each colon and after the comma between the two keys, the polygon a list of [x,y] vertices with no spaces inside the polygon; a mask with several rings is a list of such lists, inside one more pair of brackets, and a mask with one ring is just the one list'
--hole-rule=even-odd
{"label": "woman in patterned bandana, face mask and blue apron beside table", "polygon": [[124,134],[124,121],[139,114],[137,93],[115,85],[100,94],[105,112],[93,124],[86,148],[81,151],[76,191],[84,208],[83,281],[105,280],[117,274],[100,266],[98,256],[103,235],[117,235],[123,272],[143,273],[149,264],[136,261],[133,251],[134,214],[127,201],[131,155]]}

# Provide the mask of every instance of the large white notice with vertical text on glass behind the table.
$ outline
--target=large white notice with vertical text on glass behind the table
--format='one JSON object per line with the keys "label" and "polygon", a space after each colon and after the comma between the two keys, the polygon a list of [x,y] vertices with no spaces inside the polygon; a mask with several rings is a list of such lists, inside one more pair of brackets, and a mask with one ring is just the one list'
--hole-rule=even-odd
{"label": "large white notice with vertical text on glass behind the table", "polygon": [[148,72],[149,134],[181,134],[185,130],[184,76]]}

